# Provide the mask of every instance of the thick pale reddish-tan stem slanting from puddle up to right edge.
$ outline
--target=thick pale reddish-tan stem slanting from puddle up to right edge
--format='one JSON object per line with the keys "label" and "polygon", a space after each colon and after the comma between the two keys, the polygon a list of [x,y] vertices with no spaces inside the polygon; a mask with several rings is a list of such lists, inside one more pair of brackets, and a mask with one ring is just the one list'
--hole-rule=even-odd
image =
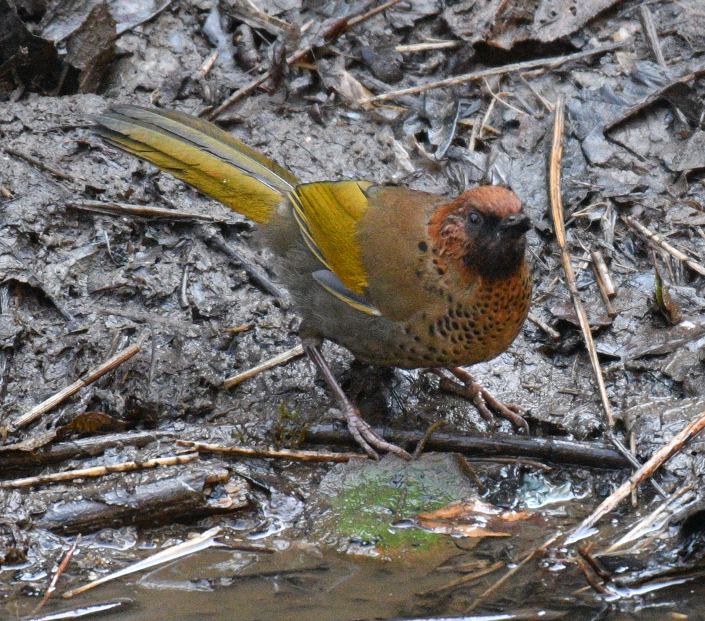
{"label": "thick pale reddish-tan stem slanting from puddle up to right edge", "polygon": [[625,483],[620,485],[613,493],[611,493],[608,498],[603,500],[596,510],[594,510],[588,517],[586,517],[581,524],[572,531],[572,534],[568,537],[566,543],[573,543],[579,541],[584,537],[591,534],[590,529],[596,522],[598,522],[601,517],[606,515],[608,512],[613,510],[624,498],[629,496],[632,488],[639,485],[648,478],[656,469],[661,467],[666,461],[668,461],[673,455],[678,453],[683,448],[683,445],[688,441],[692,440],[697,434],[705,429],[705,412],[701,412],[696,419],[687,424],[678,434],[673,436],[671,441],[661,447],[649,461],[644,463],[632,476],[627,479]]}

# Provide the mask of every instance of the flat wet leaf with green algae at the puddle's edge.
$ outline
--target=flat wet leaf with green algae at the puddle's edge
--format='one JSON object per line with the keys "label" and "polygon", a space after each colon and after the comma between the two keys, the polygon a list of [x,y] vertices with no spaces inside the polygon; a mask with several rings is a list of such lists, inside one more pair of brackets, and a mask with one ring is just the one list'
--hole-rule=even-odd
{"label": "flat wet leaf with green algae at the puddle's edge", "polygon": [[448,536],[414,527],[412,519],[477,491],[454,455],[429,453],[412,462],[389,455],[336,465],[314,496],[310,540],[393,558],[448,543]]}

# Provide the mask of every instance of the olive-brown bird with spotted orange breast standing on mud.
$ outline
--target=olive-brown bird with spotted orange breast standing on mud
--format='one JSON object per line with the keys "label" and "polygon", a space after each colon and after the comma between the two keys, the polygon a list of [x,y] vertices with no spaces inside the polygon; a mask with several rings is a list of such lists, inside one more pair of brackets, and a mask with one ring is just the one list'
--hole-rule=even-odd
{"label": "olive-brown bird with spotted orange breast standing on mud", "polygon": [[368,364],[448,369],[483,414],[489,404],[526,427],[462,369],[505,351],[529,312],[532,223],[515,192],[479,185],[449,199],[363,180],[300,183],[213,123],[163,109],[113,105],[93,129],[261,228],[302,345],[368,455],[410,458],[362,419],[321,353],[325,340]]}

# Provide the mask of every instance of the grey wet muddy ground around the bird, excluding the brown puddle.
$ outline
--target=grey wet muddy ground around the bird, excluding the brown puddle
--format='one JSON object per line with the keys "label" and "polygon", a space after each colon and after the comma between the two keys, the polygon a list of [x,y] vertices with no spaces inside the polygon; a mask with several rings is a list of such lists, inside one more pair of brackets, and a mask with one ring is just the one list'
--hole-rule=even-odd
{"label": "grey wet muddy ground around the bird, excluding the brown puddle", "polygon": [[[489,3],[485,11],[497,11],[495,4]],[[551,3],[534,4],[532,10],[550,13]],[[529,256],[535,281],[532,318],[538,321],[527,321],[507,352],[477,365],[473,373],[503,400],[527,410],[532,436],[604,443],[606,418],[565,286],[548,207],[551,108],[558,94],[564,94],[561,190],[569,250],[617,419],[615,432],[627,444],[629,432],[634,432],[635,453],[644,460],[703,409],[705,278],[647,243],[625,219],[632,216],[649,227],[694,264],[705,262],[705,13],[695,0],[648,3],[663,53],[659,64],[644,36],[640,4],[585,3],[592,13],[583,16],[580,11],[587,9],[582,7],[570,23],[555,16],[532,21],[532,11],[522,3],[508,3],[490,19],[489,13],[477,13],[472,2],[401,2],[348,32],[319,41],[314,54],[283,71],[278,85],[266,82],[269,92],[255,89],[225,111],[221,123],[302,182],[364,179],[453,196],[484,179],[517,192],[535,224],[529,233]],[[129,7],[114,3],[112,8],[128,13]],[[296,1],[259,8],[284,23],[300,26],[314,20],[310,28],[345,12],[343,6]],[[333,398],[305,357],[229,391],[222,386],[226,377],[298,343],[300,320],[276,283],[274,257],[259,247],[252,224],[168,174],[109,147],[90,130],[92,118],[113,103],[195,114],[212,110],[212,104],[262,73],[257,63],[255,68],[247,65],[248,52],[259,54],[262,66],[269,68],[275,39],[288,45],[288,54],[296,49],[289,35],[277,39],[273,25],[267,30],[256,20],[254,43],[233,47],[233,40],[244,36],[238,31],[233,39],[243,22],[242,11],[237,3],[214,8],[210,1],[182,0],[142,21],[121,22],[118,16],[121,34],[106,46],[107,60],[101,56],[95,61],[98,77],[90,80],[85,68],[80,79],[72,69],[66,73],[69,78],[54,85],[47,84],[51,75],[40,71],[39,77],[32,74],[36,79],[23,80],[29,75],[23,73],[27,66],[7,70],[12,55],[0,57],[5,62],[0,69],[6,68],[0,71],[2,479],[166,457],[184,450],[176,438],[325,448],[302,444],[312,426],[339,419]],[[33,36],[43,33],[44,39],[59,41],[59,49],[75,30],[67,25],[67,15],[54,11],[52,17],[51,11],[18,7],[18,18]],[[121,30],[122,23],[126,25]],[[548,32],[551,24],[555,32]],[[453,49],[395,50],[431,39],[460,44]],[[364,88],[380,94],[449,75],[574,54],[615,40],[623,47],[553,68],[546,63],[521,77],[516,72],[489,76],[374,107],[351,101]],[[73,49],[71,44],[68,49]],[[220,54],[212,67],[199,72],[214,49]],[[498,93],[504,93],[499,97],[511,106],[497,102]],[[124,210],[99,213],[96,202],[159,207],[178,211],[181,217],[157,219]],[[211,220],[189,219],[182,212]],[[596,285],[589,250],[600,250],[606,257],[616,291],[610,300],[612,312]],[[661,291],[657,279],[670,293],[670,303],[656,300],[656,291]],[[280,296],[272,295],[276,290]],[[37,422],[21,429],[14,426],[39,402],[135,343],[140,346],[135,357]],[[508,422],[492,429],[469,402],[441,391],[431,374],[364,367],[332,344],[324,351],[345,391],[375,425],[425,431],[440,420],[446,423],[443,431],[452,434],[514,433]],[[130,441],[139,434],[140,441]],[[80,448],[87,438],[100,436],[115,439],[108,446],[73,453],[66,448]],[[57,453],[57,446],[66,448],[61,448],[64,453]],[[51,450],[54,457],[49,457]],[[694,486],[689,508],[679,509],[681,521],[687,511],[698,515],[702,450],[702,442],[689,445],[658,475],[668,492]],[[0,592],[11,616],[28,614],[37,603],[30,595],[46,590],[71,534],[89,534],[80,520],[79,526],[68,527],[70,520],[61,507],[104,499],[111,490],[129,495],[154,481],[193,477],[188,485],[207,488],[213,502],[183,515],[160,514],[159,523],[168,524],[162,529],[154,528],[157,517],[151,514],[141,522],[130,512],[110,518],[118,529],[103,530],[99,537],[124,538],[131,542],[125,548],[129,551],[116,556],[116,544],[112,552],[108,546],[91,558],[78,557],[80,561],[66,570],[75,584],[106,567],[141,558],[140,550],[149,548],[146,541],[161,546],[214,524],[232,537],[257,535],[257,541],[269,544],[278,531],[284,534],[280,532],[276,541],[286,541],[287,546],[305,536],[311,546],[326,543],[316,534],[321,518],[316,490],[339,466],[234,462],[202,454],[180,474],[170,468],[176,467],[164,467],[156,475],[147,471],[82,479],[78,485],[68,481],[1,488],[0,561],[8,569],[0,572]],[[529,485],[527,474],[535,474],[532,466],[478,466],[474,472],[480,481],[476,489],[482,491],[478,494],[486,500],[525,508],[517,489]],[[545,476],[547,485],[572,484],[559,520],[568,528],[628,471],[563,465]],[[345,486],[336,479],[338,484]],[[236,500],[242,494],[246,508]],[[227,498],[229,504],[214,508],[214,498]],[[624,505],[620,515],[631,522],[658,502],[654,491],[644,486],[637,508]],[[75,505],[70,512],[84,510]],[[198,522],[214,512],[225,515]],[[687,557],[686,565],[697,567],[701,555],[679,553],[673,524],[661,525],[662,532],[670,528],[674,537],[665,537],[663,547],[654,543],[651,564],[682,565]],[[552,522],[538,533],[530,529],[525,541],[515,534],[515,543],[509,545],[515,545],[515,551],[529,550],[556,527]],[[616,533],[605,534],[610,536]],[[371,543],[351,543],[342,535],[332,541],[332,548],[348,551]],[[563,551],[554,553],[554,560],[561,554],[574,557]],[[570,567],[574,577],[580,577],[575,562]],[[555,570],[551,579],[537,571],[535,579],[550,591]],[[589,595],[594,597],[587,606],[589,614],[594,613],[591,606],[602,601]],[[669,597],[663,601],[673,599]],[[536,603],[544,601],[537,598]],[[462,605],[456,604],[452,598],[443,600],[431,613],[457,613]],[[374,615],[374,610],[368,614]],[[424,606],[403,608],[409,615],[424,612],[429,613]]]}

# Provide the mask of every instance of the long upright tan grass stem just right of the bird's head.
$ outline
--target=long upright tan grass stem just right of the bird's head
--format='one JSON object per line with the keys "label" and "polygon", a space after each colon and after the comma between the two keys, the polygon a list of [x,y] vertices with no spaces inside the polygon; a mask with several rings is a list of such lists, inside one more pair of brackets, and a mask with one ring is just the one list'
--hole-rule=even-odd
{"label": "long upright tan grass stem just right of the bird's head", "polygon": [[560,247],[560,258],[563,262],[563,271],[565,271],[565,278],[568,284],[568,290],[570,291],[570,297],[572,297],[573,305],[575,306],[575,312],[577,313],[578,320],[580,321],[580,328],[582,329],[583,338],[585,339],[585,346],[587,347],[587,352],[590,357],[590,363],[592,364],[592,370],[595,374],[595,379],[597,382],[597,388],[600,393],[600,399],[602,401],[602,406],[605,410],[607,416],[607,421],[610,427],[614,426],[614,418],[612,416],[612,406],[607,397],[607,389],[605,388],[605,381],[602,377],[602,371],[600,369],[600,361],[597,357],[597,350],[595,349],[595,343],[592,340],[592,333],[590,331],[590,324],[587,320],[587,314],[580,301],[580,295],[577,291],[577,284],[575,283],[575,271],[573,271],[572,263],[570,262],[570,253],[568,252],[568,245],[565,241],[565,224],[563,216],[563,202],[560,197],[560,159],[563,156],[563,128],[565,125],[565,95],[560,94],[558,96],[558,101],[556,102],[556,119],[553,124],[553,147],[551,148],[551,165],[549,174],[549,187],[551,190],[551,215],[553,216],[553,228],[556,230],[556,240],[558,240],[558,246]]}

